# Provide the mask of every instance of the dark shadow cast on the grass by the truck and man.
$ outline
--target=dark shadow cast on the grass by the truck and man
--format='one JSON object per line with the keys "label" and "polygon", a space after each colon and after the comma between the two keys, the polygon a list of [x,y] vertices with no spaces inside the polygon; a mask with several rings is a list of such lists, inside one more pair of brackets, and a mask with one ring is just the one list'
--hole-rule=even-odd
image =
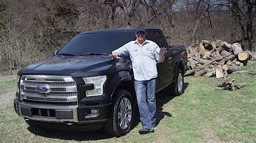
{"label": "dark shadow cast on the grass by the truck and man", "polygon": [[[184,83],[184,90],[186,90],[188,83]],[[163,111],[164,104],[171,101],[176,96],[173,96],[173,93],[170,93],[168,88],[164,88],[162,91],[156,94],[157,100],[157,123],[164,118],[164,116],[172,117],[172,114],[169,112]],[[137,108],[137,106],[136,106]],[[138,108],[135,111],[134,124],[131,127],[131,130],[135,128],[139,124],[139,113]],[[109,139],[113,138],[113,136],[104,132],[103,128],[98,131],[87,131],[87,132],[70,132],[70,131],[58,131],[58,130],[45,130],[44,128],[32,127],[29,126],[28,130],[36,135],[41,135],[42,137],[46,138],[53,138],[53,139],[63,139],[63,140],[76,140],[76,141],[86,141],[86,140],[101,140],[101,139]]]}

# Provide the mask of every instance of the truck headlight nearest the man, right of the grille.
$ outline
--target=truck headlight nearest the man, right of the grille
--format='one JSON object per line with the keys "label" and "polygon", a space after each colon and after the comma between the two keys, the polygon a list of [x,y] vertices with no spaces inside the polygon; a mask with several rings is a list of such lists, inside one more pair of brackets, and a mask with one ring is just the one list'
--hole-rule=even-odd
{"label": "truck headlight nearest the man, right of the grille", "polygon": [[93,84],[93,90],[86,91],[86,97],[101,96],[103,94],[103,85],[106,81],[106,76],[84,77],[85,84]]}

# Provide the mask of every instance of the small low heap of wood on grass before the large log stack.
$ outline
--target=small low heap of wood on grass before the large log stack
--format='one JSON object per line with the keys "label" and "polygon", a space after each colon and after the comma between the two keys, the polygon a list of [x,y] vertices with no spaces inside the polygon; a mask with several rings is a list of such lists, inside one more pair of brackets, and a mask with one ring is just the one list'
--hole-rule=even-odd
{"label": "small low heap of wood on grass before the large log stack", "polygon": [[234,80],[235,79],[224,79],[223,81],[221,81],[218,84],[218,87],[216,88],[216,90],[234,91],[234,90],[240,89],[241,87],[244,87],[247,85],[245,82],[240,83],[240,84],[235,84]]}

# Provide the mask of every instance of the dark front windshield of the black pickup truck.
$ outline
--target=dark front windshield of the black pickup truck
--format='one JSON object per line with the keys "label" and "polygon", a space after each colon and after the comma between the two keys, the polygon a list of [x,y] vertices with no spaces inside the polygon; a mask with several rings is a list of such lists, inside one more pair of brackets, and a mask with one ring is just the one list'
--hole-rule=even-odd
{"label": "dark front windshield of the black pickup truck", "polygon": [[133,37],[133,32],[83,33],[73,37],[58,55],[111,54],[113,50],[134,40]]}

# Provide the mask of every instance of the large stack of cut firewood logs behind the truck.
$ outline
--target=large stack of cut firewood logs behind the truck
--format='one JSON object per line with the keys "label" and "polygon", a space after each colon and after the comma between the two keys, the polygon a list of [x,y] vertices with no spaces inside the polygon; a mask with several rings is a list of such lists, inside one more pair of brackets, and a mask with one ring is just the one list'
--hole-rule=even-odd
{"label": "large stack of cut firewood logs behind the truck", "polygon": [[256,52],[243,51],[239,43],[231,45],[221,40],[202,40],[187,47],[187,52],[188,70],[184,76],[225,78],[241,66],[256,61]]}

